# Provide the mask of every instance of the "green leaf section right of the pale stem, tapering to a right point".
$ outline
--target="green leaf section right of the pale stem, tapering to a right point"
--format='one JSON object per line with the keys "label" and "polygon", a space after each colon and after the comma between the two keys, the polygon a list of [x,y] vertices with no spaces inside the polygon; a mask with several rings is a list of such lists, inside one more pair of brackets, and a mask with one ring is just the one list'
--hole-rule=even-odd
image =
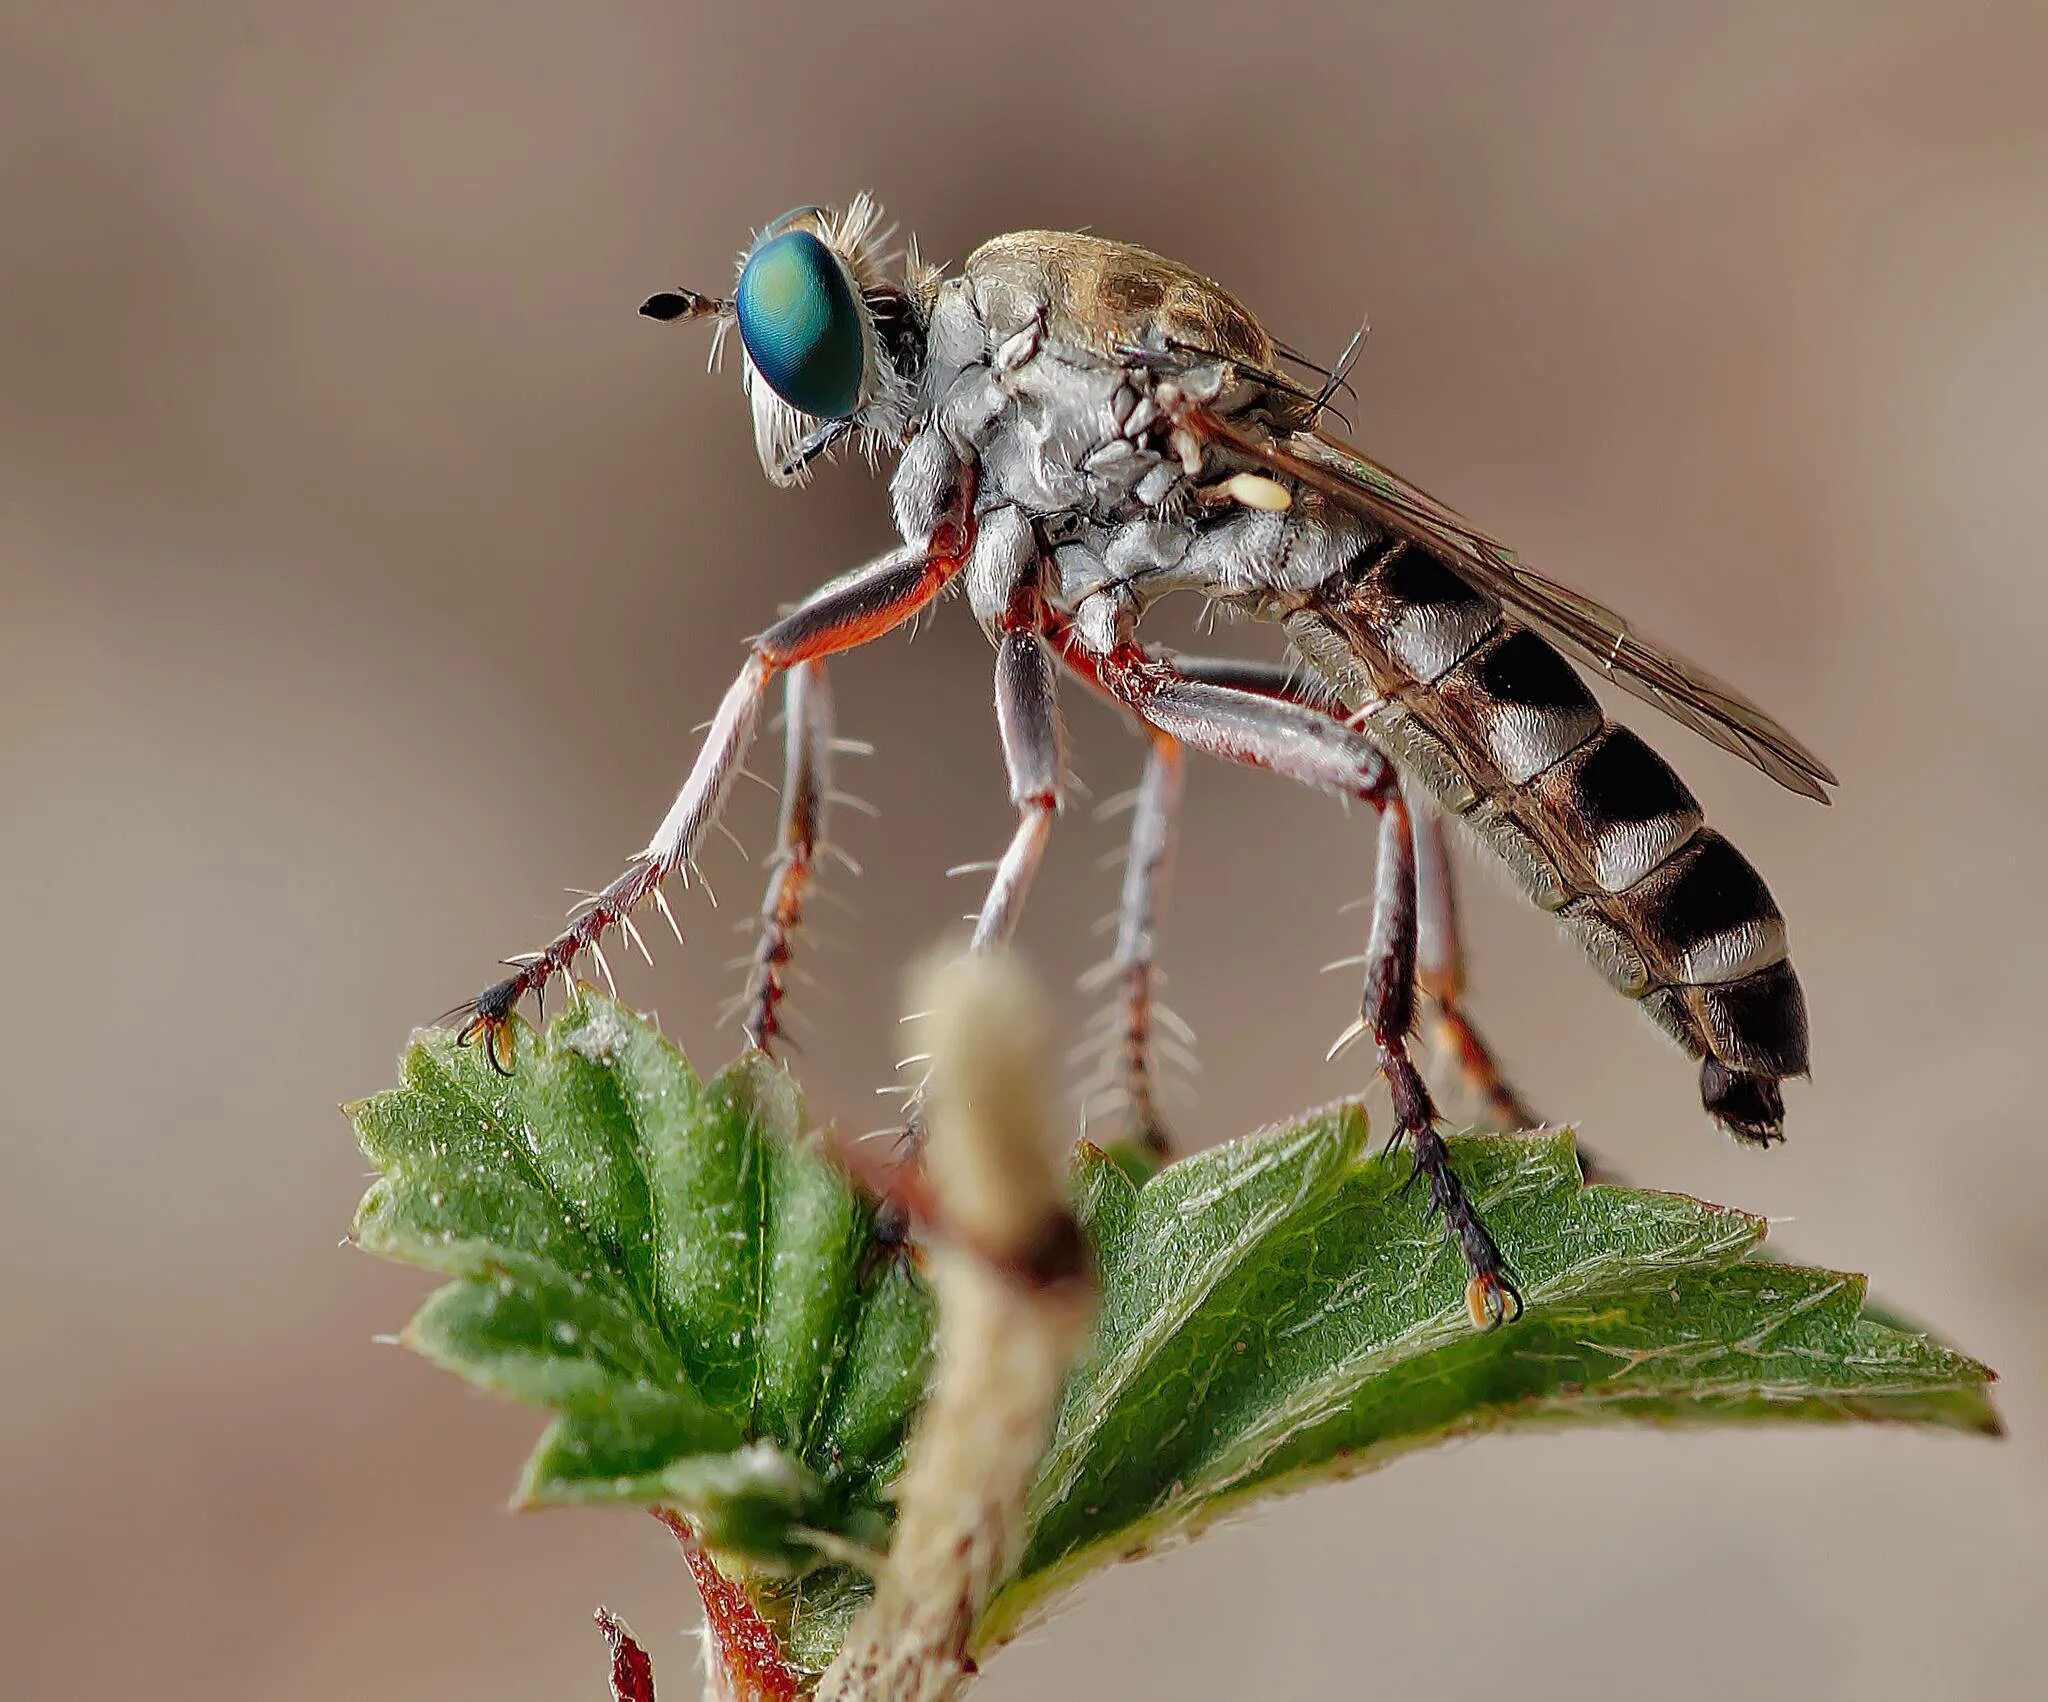
{"label": "green leaf section right of the pale stem, tapering to a right point", "polygon": [[1559,1423],[1896,1419],[1997,1432],[1991,1372],[1864,1311],[1864,1278],[1747,1260],[1763,1219],[1585,1186],[1569,1133],[1452,1159],[1522,1284],[1491,1335],[1405,1157],[1354,1106],[1137,1186],[1081,1147],[1102,1317],[975,1643],[1083,1573],[1317,1479],[1450,1436]]}

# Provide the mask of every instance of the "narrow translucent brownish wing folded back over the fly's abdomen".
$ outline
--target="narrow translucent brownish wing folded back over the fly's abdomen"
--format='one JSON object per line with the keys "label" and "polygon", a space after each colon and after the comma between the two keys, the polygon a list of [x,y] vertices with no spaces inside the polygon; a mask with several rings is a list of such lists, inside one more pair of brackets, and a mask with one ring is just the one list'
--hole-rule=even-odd
{"label": "narrow translucent brownish wing folded back over the fly's abdomen", "polygon": [[1778,784],[1829,803],[1827,789],[1839,784],[1833,770],[1735,686],[1651,643],[1585,592],[1526,567],[1503,543],[1366,453],[1315,430],[1268,436],[1206,410],[1190,424],[1440,553],[1503,608],[1606,674],[1624,692],[1735,752]]}

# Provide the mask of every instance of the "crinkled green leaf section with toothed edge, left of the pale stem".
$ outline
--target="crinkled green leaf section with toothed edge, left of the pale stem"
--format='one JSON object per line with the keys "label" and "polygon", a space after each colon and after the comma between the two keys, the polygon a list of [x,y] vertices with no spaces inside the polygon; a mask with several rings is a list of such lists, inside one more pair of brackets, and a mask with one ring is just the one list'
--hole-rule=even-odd
{"label": "crinkled green leaf section with toothed edge, left of the pale stem", "polygon": [[700,1083],[586,993],[516,1030],[510,1077],[422,1032],[350,1116],[383,1172],[356,1241],[455,1278],[403,1342],[555,1413],[520,1503],[676,1505],[764,1577],[819,1534],[887,1538],[930,1301],[899,1266],[862,1282],[870,1210],[786,1075],[750,1055]]}

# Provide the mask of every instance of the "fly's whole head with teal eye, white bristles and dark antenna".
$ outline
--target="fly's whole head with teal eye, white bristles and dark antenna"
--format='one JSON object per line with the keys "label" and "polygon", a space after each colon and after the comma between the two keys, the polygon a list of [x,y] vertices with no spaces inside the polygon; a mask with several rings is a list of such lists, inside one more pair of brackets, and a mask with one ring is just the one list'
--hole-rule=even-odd
{"label": "fly's whole head with teal eye, white bristles and dark antenna", "polygon": [[649,320],[715,320],[711,358],[739,328],[739,383],[754,408],[754,446],[778,485],[799,485],[846,436],[868,457],[901,446],[924,369],[918,262],[885,276],[881,209],[795,207],[739,256],[731,299],[690,289],[651,295]]}

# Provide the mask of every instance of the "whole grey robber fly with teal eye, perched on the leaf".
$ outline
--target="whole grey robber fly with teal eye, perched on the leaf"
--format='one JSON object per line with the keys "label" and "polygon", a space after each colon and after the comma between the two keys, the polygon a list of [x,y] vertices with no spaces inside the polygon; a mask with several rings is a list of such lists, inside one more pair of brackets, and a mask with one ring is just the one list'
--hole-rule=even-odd
{"label": "whole grey robber fly with teal eye, perched on the leaf", "polygon": [[[750,1038],[778,1032],[791,930],[819,846],[834,750],[819,664],[963,586],[995,645],[995,719],[1018,825],[993,864],[975,948],[1010,938],[1061,811],[1063,674],[1149,739],[1124,875],[1122,1022],[1133,1114],[1145,1090],[1151,936],[1182,752],[1270,768],[1378,817],[1378,870],[1352,1038],[1370,1038],[1448,1239],[1475,1325],[1520,1315],[1501,1251],[1454,1174],[1409,1057],[1442,961],[1438,813],[1466,823],[1595,967],[1700,1061],[1708,1114],[1782,1139],[1780,1083],[1806,1073],[1806,1008],[1755,868],[1704,825],[1651,748],[1606,719],[1575,666],[1657,705],[1810,799],[1835,776],[1772,717],[1630,625],[1524,565],[1327,428],[1341,369],[1309,363],[1186,266],[1096,236],[1018,231],[956,276],[911,250],[889,270],[877,209],[801,207],[756,236],[729,299],[651,297],[655,320],[737,326],[762,469],[801,483],[842,442],[895,457],[901,545],[825,584],[754,639],[647,848],[541,952],[459,1014],[510,1067],[520,997],[545,993],[690,864],[717,821],[768,686],[791,682],[791,782],[764,907]],[[1176,655],[1145,610],[1198,592],[1278,623],[1298,668]],[[674,918],[670,916],[670,922]],[[1436,963],[1432,965],[1432,938]],[[608,969],[606,969],[608,975]],[[1460,1020],[1462,1022],[1462,1020]],[[1485,1063],[1470,1028],[1466,1063]],[[1495,1081],[1495,1102],[1513,1096]]]}

